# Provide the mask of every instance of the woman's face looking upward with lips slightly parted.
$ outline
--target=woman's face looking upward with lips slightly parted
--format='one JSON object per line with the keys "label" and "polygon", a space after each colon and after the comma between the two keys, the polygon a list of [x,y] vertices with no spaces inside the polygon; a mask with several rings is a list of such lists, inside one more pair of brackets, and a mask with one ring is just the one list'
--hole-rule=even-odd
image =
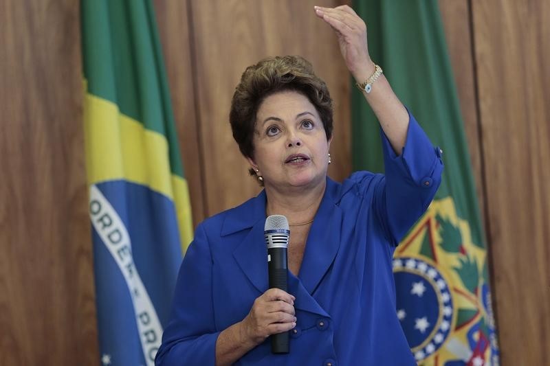
{"label": "woman's face looking upward with lips slightly parted", "polygon": [[330,141],[305,95],[283,91],[260,104],[254,128],[254,159],[266,189],[314,187],[327,176]]}

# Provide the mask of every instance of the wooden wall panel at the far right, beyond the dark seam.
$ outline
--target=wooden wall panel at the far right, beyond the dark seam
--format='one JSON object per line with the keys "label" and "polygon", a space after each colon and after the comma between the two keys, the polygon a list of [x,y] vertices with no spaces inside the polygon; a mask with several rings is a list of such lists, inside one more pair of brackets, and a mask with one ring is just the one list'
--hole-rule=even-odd
{"label": "wooden wall panel at the far right, beyond the dark seam", "polygon": [[503,365],[550,347],[550,3],[472,1]]}

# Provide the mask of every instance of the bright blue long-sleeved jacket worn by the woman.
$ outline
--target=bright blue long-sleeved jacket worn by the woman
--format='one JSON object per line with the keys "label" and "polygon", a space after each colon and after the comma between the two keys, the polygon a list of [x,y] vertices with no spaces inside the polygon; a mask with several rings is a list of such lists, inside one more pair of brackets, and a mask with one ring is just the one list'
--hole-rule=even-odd
{"label": "bright blue long-sleeved jacket worn by the woman", "polygon": [[[382,139],[385,176],[327,178],[300,273],[288,273],[298,319],[289,354],[272,354],[267,339],[235,365],[416,365],[397,319],[392,257],[432,201],[443,162],[412,115],[401,155]],[[265,204],[263,191],[197,227],[156,365],[214,365],[219,333],[267,290]]]}

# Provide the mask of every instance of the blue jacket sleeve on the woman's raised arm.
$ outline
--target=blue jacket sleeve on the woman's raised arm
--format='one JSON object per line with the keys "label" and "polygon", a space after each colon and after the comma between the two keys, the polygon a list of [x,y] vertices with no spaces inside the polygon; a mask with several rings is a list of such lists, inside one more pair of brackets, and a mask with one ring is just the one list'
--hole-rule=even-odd
{"label": "blue jacket sleeve on the woman's raised arm", "polygon": [[410,227],[426,211],[441,184],[441,149],[409,112],[406,142],[397,156],[380,129],[385,176],[376,185],[373,204],[388,239],[399,244]]}

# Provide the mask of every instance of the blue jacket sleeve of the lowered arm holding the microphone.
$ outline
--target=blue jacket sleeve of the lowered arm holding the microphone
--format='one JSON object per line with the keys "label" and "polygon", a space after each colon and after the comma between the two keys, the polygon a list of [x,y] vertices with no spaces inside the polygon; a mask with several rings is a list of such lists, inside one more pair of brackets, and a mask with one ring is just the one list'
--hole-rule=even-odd
{"label": "blue jacket sleeve of the lowered arm holding the microphone", "polygon": [[219,332],[213,314],[212,255],[199,225],[179,269],[172,313],[155,365],[214,365]]}

